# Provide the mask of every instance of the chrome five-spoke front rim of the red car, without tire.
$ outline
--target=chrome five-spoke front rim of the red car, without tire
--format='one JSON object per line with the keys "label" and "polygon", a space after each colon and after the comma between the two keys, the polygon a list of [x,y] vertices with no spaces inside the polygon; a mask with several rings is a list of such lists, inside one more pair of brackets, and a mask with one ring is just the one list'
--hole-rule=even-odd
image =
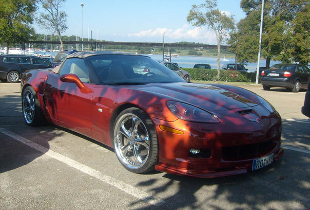
{"label": "chrome five-spoke front rim of the red car, without tire", "polygon": [[116,155],[126,167],[139,169],[148,160],[149,133],[135,114],[126,113],[120,116],[114,127],[114,139]]}

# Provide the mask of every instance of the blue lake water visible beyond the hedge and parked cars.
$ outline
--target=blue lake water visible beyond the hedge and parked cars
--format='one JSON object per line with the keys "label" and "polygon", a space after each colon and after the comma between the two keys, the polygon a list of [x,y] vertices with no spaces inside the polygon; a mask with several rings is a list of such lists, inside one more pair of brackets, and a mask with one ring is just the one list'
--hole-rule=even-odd
{"label": "blue lake water visible beyond the hedge and parked cars", "polygon": [[[148,55],[155,59],[156,61],[162,61],[162,55],[154,54],[154,55]],[[167,59],[167,57],[165,57]],[[223,58],[221,58],[223,59]],[[234,63],[234,58],[226,58],[228,61],[222,61],[221,60],[221,68],[226,63]],[[182,56],[179,57],[172,57],[171,62],[177,63],[180,67],[183,68],[193,68],[195,64],[197,63],[203,63],[203,64],[210,64],[212,69],[217,69],[217,57],[204,57],[204,56]],[[280,61],[271,61],[270,66],[281,63]],[[265,67],[266,66],[266,60],[260,60],[259,66]],[[246,69],[249,71],[255,71],[257,68],[257,62],[256,63],[248,63],[247,66],[245,66]]]}

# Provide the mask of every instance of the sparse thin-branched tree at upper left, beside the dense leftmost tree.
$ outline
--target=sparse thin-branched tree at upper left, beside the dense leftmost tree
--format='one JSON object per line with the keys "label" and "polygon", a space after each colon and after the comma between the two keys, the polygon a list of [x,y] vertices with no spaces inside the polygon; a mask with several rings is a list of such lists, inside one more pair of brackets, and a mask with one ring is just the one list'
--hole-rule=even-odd
{"label": "sparse thin-branched tree at upper left, beside the dense leftmost tree", "polygon": [[43,9],[47,13],[40,12],[37,22],[43,28],[48,29],[52,33],[56,32],[60,41],[61,50],[63,50],[63,43],[61,33],[68,29],[67,14],[60,11],[61,4],[66,0],[39,0]]}

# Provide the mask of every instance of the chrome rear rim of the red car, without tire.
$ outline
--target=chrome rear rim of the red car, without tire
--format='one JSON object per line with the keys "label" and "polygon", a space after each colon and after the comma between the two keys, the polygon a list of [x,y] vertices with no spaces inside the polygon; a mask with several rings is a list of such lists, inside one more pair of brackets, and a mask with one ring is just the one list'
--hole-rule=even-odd
{"label": "chrome rear rim of the red car, without tire", "polygon": [[26,123],[32,123],[35,119],[35,99],[32,92],[28,89],[23,93],[22,113]]}

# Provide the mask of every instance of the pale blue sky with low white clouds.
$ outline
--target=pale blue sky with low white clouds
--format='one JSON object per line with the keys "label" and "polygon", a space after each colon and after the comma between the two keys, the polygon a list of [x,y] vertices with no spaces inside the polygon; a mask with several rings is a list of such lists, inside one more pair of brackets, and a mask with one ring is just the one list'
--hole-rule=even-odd
{"label": "pale blue sky with low white clouds", "polygon": [[[218,9],[233,15],[237,23],[245,18],[245,13],[240,9],[240,1],[218,0]],[[192,5],[204,2],[205,0],[66,0],[60,10],[68,15],[68,29],[61,35],[81,37],[83,31],[84,41],[91,38],[92,32],[93,39],[106,41],[163,42],[165,32],[165,43],[187,41],[216,44],[215,34],[211,30],[207,27],[194,27],[187,22]],[[36,33],[52,34],[36,24],[34,27]]]}

